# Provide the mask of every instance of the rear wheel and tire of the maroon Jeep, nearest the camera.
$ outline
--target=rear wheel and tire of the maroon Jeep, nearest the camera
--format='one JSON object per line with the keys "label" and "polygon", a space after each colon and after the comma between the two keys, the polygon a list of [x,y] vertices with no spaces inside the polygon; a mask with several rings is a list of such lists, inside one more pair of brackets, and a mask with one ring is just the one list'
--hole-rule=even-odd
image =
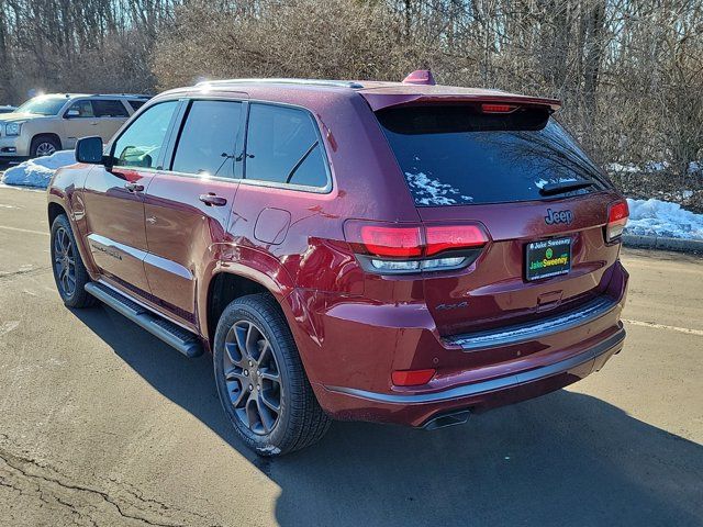
{"label": "rear wheel and tire of the maroon Jeep, nearest the camera", "polygon": [[[239,344],[244,344],[244,351]],[[256,354],[258,359],[247,360]],[[331,419],[315,399],[290,328],[272,296],[250,294],[227,305],[217,322],[213,355],[222,406],[237,435],[256,453],[274,457],[292,452],[316,442],[327,431]],[[276,377],[278,386],[272,380]],[[276,406],[278,413],[272,410]]]}

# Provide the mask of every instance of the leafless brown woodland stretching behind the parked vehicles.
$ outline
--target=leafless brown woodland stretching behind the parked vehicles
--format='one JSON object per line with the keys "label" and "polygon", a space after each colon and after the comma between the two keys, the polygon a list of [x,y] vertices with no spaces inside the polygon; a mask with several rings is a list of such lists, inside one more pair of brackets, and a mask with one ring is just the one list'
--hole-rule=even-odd
{"label": "leafless brown woodland stretching behind the parked vehicles", "polygon": [[625,191],[703,209],[700,0],[0,0],[0,61],[10,102],[30,88],[431,67],[445,83],[562,99],[559,119],[598,160],[641,169],[613,175]]}

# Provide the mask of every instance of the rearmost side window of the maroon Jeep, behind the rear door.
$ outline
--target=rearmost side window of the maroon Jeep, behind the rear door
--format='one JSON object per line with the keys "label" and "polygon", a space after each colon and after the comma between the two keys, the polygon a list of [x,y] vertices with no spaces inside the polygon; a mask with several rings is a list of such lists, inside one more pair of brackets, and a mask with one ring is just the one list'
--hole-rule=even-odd
{"label": "rearmost side window of the maroon Jeep, behind the rear door", "polygon": [[246,179],[324,188],[327,169],[317,126],[294,108],[252,104]]}

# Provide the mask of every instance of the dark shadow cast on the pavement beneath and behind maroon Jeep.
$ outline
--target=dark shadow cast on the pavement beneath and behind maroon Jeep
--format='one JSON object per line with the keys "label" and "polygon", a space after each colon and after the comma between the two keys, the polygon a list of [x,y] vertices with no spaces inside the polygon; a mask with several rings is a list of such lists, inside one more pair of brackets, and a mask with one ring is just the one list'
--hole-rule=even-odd
{"label": "dark shadow cast on the pavement beneath and behind maroon Jeep", "polygon": [[599,399],[562,390],[434,433],[335,423],[265,460],[231,430],[209,356],[186,359],[107,307],[75,314],[280,486],[282,526],[703,524],[703,447]]}

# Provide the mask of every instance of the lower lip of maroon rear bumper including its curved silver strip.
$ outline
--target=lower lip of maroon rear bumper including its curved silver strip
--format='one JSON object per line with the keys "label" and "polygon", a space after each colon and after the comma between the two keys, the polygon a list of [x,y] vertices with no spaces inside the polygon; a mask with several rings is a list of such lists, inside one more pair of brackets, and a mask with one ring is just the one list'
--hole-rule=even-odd
{"label": "lower lip of maroon rear bumper including its curved silver strip", "polygon": [[424,426],[439,415],[481,412],[569,385],[600,370],[622,349],[624,339],[625,329],[618,323],[610,336],[568,359],[431,393],[375,393],[344,386],[321,386],[317,393],[324,407],[336,408],[336,418]]}

